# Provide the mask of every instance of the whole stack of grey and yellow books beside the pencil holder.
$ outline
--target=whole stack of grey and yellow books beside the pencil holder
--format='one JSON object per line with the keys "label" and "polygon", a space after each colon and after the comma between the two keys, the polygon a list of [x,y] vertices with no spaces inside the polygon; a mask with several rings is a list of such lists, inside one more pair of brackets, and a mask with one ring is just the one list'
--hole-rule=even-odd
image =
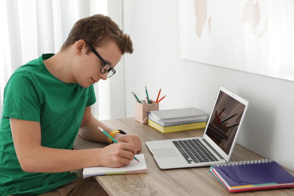
{"label": "whole stack of grey and yellow books beside the pencil holder", "polygon": [[155,110],[148,116],[148,125],[162,133],[205,128],[206,122],[207,114],[197,108]]}

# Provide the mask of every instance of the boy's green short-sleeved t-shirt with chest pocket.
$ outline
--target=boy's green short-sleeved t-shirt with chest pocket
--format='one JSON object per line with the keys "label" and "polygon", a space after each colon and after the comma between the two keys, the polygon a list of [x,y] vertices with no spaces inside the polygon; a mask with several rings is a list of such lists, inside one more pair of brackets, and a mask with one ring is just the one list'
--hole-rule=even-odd
{"label": "boy's green short-sleeved t-shirt with chest pocket", "polygon": [[[9,118],[40,122],[41,145],[72,149],[86,106],[96,102],[93,85],[63,83],[39,58],[19,67],[5,89],[0,123],[0,195],[38,195],[74,180],[76,173],[24,172],[17,160]],[[54,159],[54,156],[52,157]]]}

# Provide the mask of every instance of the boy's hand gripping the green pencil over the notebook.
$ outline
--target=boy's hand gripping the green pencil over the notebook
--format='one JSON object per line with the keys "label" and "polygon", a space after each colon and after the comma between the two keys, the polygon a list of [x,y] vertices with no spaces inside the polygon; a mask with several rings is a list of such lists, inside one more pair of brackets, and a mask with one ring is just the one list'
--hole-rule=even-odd
{"label": "boy's hand gripping the green pencil over the notebook", "polygon": [[133,144],[114,143],[101,149],[98,161],[104,167],[122,167],[131,163],[136,153],[137,149]]}

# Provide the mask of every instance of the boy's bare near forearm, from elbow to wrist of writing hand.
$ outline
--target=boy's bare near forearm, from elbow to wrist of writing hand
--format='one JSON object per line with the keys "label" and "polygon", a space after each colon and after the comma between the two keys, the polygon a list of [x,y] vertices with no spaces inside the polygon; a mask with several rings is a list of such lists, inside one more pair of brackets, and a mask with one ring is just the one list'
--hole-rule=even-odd
{"label": "boy's bare near forearm, from elbow to wrist of writing hand", "polygon": [[65,150],[39,146],[29,150],[21,164],[25,172],[58,173],[99,166],[101,149]]}

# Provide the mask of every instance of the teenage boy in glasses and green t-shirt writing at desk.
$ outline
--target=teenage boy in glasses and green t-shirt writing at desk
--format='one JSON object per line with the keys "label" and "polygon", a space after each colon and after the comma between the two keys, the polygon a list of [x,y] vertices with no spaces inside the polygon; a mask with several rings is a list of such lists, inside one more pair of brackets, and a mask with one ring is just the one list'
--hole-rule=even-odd
{"label": "teenage boy in glasses and green t-shirt writing at desk", "polygon": [[[58,53],[16,69],[4,89],[0,195],[107,195],[69,171],[121,167],[141,150],[137,135],[112,130],[91,114],[93,84],[113,76],[121,56],[132,52],[130,36],[97,14],[77,21]],[[119,143],[72,150],[77,134],[107,143],[99,126]]]}

